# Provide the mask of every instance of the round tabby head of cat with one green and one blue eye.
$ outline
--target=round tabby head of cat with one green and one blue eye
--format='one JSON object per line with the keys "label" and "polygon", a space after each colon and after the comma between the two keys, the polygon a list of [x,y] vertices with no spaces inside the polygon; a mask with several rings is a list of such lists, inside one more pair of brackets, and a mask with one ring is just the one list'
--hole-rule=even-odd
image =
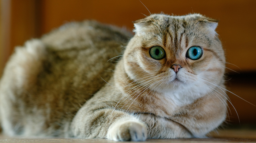
{"label": "round tabby head of cat with one green and one blue eye", "polygon": [[200,14],[155,14],[135,21],[123,57],[125,72],[155,91],[211,90],[223,82],[225,71],[217,25]]}

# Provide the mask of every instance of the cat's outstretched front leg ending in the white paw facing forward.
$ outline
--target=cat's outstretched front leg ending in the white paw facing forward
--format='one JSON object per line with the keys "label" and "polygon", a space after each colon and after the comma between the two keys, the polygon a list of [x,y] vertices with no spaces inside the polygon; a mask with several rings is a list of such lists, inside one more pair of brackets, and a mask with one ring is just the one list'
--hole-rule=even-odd
{"label": "cat's outstretched front leg ending in the white paw facing forward", "polygon": [[146,124],[134,115],[113,109],[88,111],[82,107],[71,124],[72,135],[79,138],[108,138],[116,141],[144,141]]}

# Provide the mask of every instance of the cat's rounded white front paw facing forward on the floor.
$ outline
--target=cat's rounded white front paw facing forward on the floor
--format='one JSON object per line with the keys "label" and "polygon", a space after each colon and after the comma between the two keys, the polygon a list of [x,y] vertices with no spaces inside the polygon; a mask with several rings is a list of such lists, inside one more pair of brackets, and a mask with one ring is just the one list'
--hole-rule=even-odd
{"label": "cat's rounded white front paw facing forward on the floor", "polygon": [[115,123],[108,131],[108,139],[115,141],[145,141],[147,129],[136,120]]}

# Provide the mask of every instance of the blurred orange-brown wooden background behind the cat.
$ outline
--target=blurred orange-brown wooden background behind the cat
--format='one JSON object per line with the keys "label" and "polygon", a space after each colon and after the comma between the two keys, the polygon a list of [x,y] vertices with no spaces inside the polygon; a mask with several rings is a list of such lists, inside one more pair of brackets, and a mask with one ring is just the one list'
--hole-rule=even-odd
{"label": "blurred orange-brown wooden background behind the cat", "polygon": [[256,105],[256,0],[140,1],[1,0],[0,73],[15,46],[69,21],[94,19],[132,31],[132,21],[150,15],[148,10],[169,15],[201,13],[219,20],[217,32],[227,59],[227,90],[240,96],[227,93],[233,104],[228,124],[256,124],[256,107],[250,104]]}

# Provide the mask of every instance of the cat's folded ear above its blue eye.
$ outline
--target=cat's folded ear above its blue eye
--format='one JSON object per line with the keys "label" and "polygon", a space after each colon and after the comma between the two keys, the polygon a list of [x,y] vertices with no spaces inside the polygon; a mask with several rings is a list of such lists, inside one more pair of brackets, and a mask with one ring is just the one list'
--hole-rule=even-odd
{"label": "cat's folded ear above its blue eye", "polygon": [[216,36],[218,35],[217,32],[215,31],[217,26],[218,26],[218,22],[219,20],[215,20],[215,19],[211,19],[211,18],[206,18],[206,19],[202,19],[199,20],[201,25],[207,29],[208,33],[210,36]]}

